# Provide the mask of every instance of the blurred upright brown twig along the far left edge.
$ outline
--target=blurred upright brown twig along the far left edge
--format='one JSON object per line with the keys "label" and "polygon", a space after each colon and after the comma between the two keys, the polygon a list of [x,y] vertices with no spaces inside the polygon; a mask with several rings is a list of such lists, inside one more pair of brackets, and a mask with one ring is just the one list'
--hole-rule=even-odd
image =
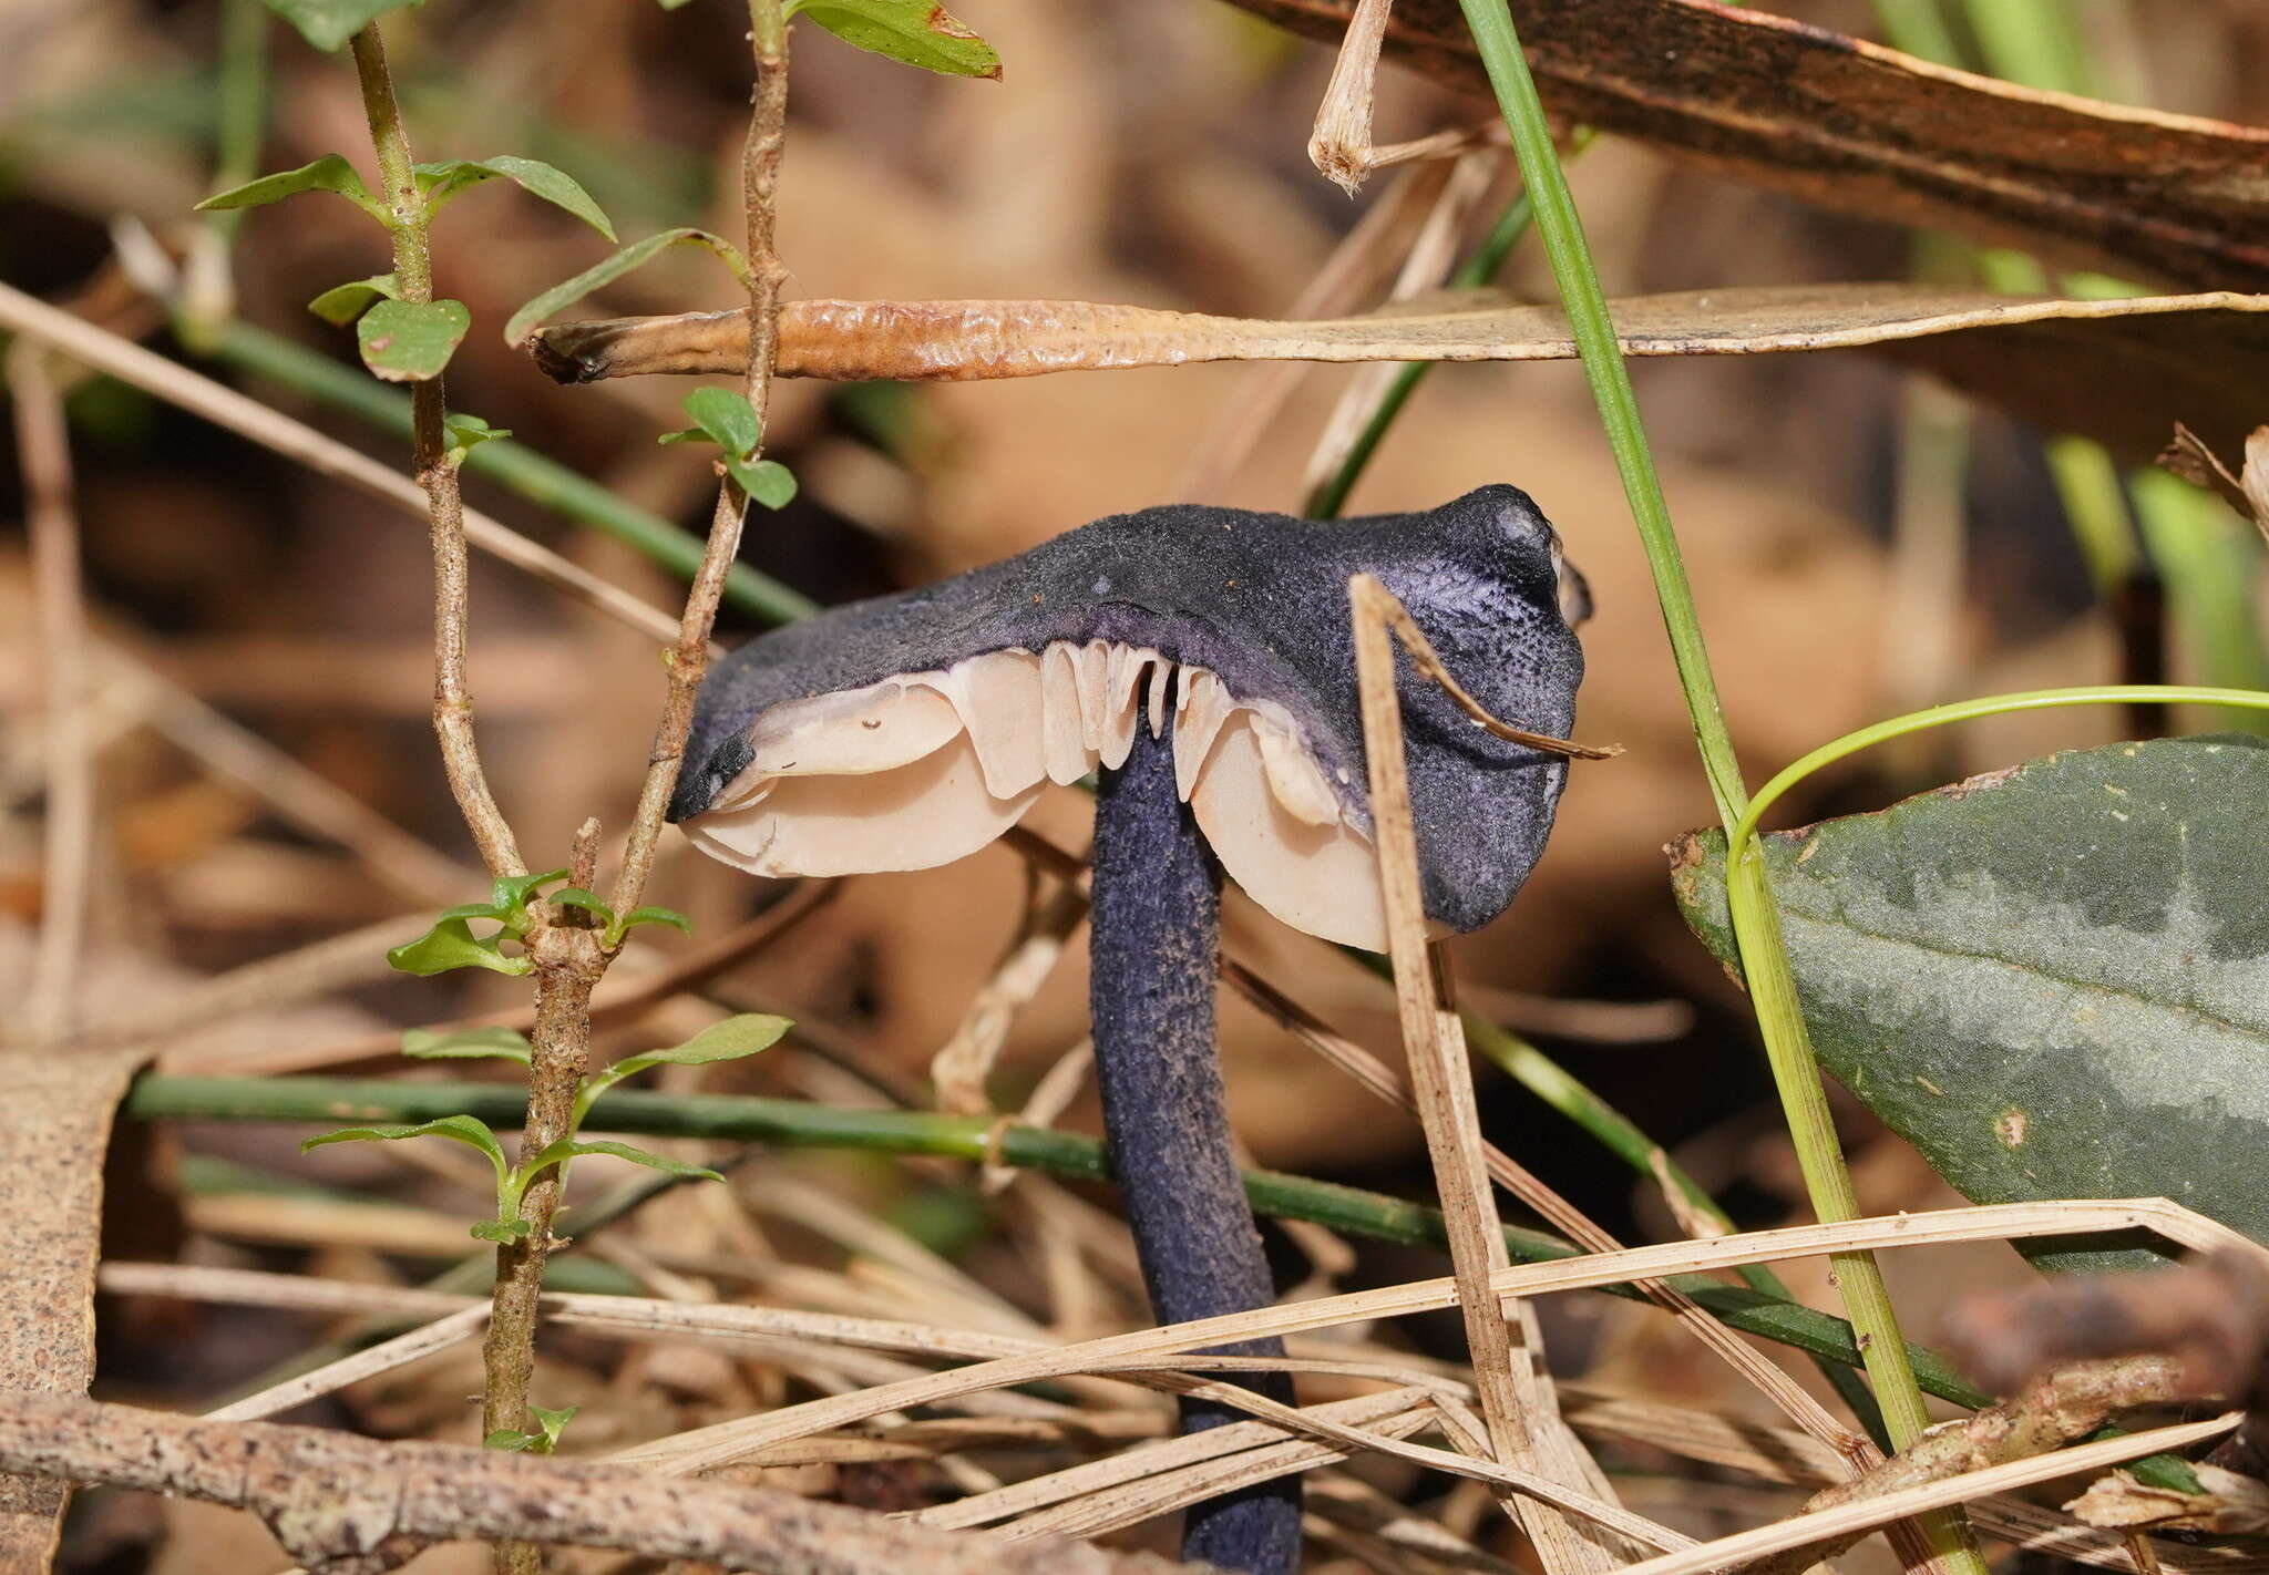
{"label": "blurred upright brown twig along the far left edge", "polygon": [[95,763],[86,726],[86,590],[79,576],[79,515],[73,508],[70,433],[48,354],[18,345],[7,361],[16,402],[39,647],[45,672],[48,810],[41,858],[39,944],[25,1019],[32,1037],[59,1039],[77,1017],[79,960],[95,851]]}

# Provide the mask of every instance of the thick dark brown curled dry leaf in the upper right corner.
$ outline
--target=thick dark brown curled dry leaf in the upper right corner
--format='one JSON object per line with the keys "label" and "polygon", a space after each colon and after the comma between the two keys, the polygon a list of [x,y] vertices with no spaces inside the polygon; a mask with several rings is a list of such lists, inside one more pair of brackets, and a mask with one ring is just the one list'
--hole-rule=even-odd
{"label": "thick dark brown curled dry leaf in the upper right corner", "polygon": [[[1234,0],[1336,43],[1352,0]],[[2269,132],[2099,104],[1702,0],[1513,0],[1545,102],[1684,163],[1874,220],[2201,288],[2269,284]],[[1457,0],[1386,57],[1488,93]]]}

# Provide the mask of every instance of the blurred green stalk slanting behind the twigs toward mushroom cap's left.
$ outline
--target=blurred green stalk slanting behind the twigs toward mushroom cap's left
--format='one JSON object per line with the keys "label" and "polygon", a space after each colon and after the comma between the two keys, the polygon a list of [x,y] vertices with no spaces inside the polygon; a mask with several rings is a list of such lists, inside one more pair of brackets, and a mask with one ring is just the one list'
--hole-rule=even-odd
{"label": "blurred green stalk slanting behind the twigs toward mushroom cap's left", "polygon": [[[363,377],[322,352],[297,345],[279,334],[229,322],[213,343],[213,359],[265,377],[318,404],[354,415],[361,422],[408,436],[411,402],[406,395]],[[465,472],[495,481],[531,504],[588,524],[640,551],[681,579],[701,567],[701,538],[683,531],[658,513],[640,508],[606,490],[590,477],[511,438],[474,445],[465,454]],[[767,624],[792,624],[819,610],[810,597],[781,581],[735,563],[724,579],[724,599],[735,610]]]}

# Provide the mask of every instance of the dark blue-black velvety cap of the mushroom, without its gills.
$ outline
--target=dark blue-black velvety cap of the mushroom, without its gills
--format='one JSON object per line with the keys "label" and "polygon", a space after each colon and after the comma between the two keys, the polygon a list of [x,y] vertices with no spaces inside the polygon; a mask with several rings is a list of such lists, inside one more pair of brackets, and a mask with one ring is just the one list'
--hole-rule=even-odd
{"label": "dark blue-black velvety cap of the mushroom, without its gills", "polygon": [[[1532,733],[1570,733],[1584,656],[1561,615],[1559,540],[1525,492],[1486,486],[1425,513],[1339,522],[1173,504],[1096,520],[1014,558],[842,606],[733,651],[701,690],[669,817],[692,822],[701,840],[703,819],[722,819],[751,794],[760,799],[765,783],[778,781],[774,772],[794,772],[796,763],[781,758],[778,738],[771,756],[758,760],[765,751],[760,722],[833,706],[815,697],[896,694],[894,679],[953,672],[996,651],[1128,647],[1180,665],[1184,701],[1189,669],[1205,669],[1230,699],[1273,719],[1275,742],[1289,722],[1346,826],[1368,837],[1348,617],[1348,579],[1359,572],[1375,574],[1402,599],[1448,669],[1486,710]],[[1568,767],[1484,731],[1407,660],[1398,683],[1427,915],[1448,928],[1473,930],[1504,912],[1534,867]],[[781,710],[799,701],[799,710]],[[985,694],[958,694],[958,704],[967,715]],[[862,724],[878,726],[874,717]],[[969,726],[980,733],[985,722],[971,717]],[[1037,717],[1030,726],[1039,726]],[[1103,763],[1114,765],[1107,747]],[[960,769],[964,778],[976,772],[973,765],[926,769]],[[1062,781],[1062,769],[1053,774]],[[1021,778],[1010,785],[1021,790]],[[815,803],[821,783],[805,776],[796,792],[803,794],[799,803]],[[1005,806],[1001,824],[1021,812],[1017,803]],[[1218,826],[1209,833],[1223,865],[1237,874],[1239,860],[1221,847],[1234,833]],[[842,865],[762,865],[715,842],[703,847],[765,874],[842,871]],[[967,849],[946,856],[960,851]],[[942,862],[910,858],[914,862],[878,849],[876,862],[860,867]],[[1330,924],[1305,928],[1332,933]]]}

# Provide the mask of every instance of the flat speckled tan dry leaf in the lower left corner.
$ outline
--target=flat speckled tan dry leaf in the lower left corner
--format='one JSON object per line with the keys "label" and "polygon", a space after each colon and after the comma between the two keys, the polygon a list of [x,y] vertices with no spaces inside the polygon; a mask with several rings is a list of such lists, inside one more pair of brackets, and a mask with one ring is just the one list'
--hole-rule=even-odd
{"label": "flat speckled tan dry leaf in the lower left corner", "polygon": [[[0,1053],[0,1391],[84,1396],[111,1114],[147,1051]],[[0,1475],[0,1570],[43,1570],[70,1489]]]}

